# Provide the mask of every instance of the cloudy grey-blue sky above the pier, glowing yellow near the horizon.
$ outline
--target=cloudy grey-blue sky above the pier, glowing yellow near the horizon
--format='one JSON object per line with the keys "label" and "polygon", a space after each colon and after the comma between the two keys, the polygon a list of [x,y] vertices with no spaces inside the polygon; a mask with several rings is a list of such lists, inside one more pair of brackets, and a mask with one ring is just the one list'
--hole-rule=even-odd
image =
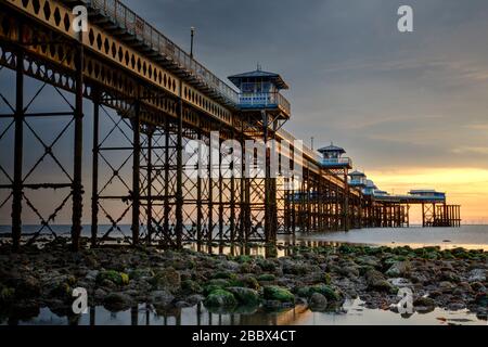
{"label": "cloudy grey-blue sky above the pier, glowing yellow near the horizon", "polygon": [[[488,222],[486,0],[125,3],[183,49],[196,27],[195,56],[222,79],[281,74],[285,128],[305,143],[333,141],[381,189],[446,191],[465,222]],[[403,4],[413,33],[397,29]]]}

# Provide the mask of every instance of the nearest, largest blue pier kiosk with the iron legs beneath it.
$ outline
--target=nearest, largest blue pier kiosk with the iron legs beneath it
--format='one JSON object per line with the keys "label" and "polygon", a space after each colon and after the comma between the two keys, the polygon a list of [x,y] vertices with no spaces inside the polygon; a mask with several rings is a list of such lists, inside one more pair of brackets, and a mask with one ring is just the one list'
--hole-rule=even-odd
{"label": "nearest, largest blue pier kiosk with the iron legs beneath it", "polygon": [[[277,131],[291,116],[290,102],[281,94],[282,90],[288,89],[286,82],[279,74],[265,72],[260,66],[253,72],[230,76],[229,79],[239,89],[239,121],[243,133],[243,149],[246,139],[261,143],[274,140]],[[242,163],[245,168],[246,159],[256,164],[266,160],[264,176],[255,174],[242,180],[244,202],[241,206],[241,221],[244,227],[244,241],[274,242],[279,229],[278,208],[283,207],[278,206],[277,177],[275,172],[271,172],[270,156],[274,149],[266,146],[265,151],[265,158],[260,157],[259,153],[256,157],[253,154],[252,158],[246,155],[247,158],[243,158]],[[279,201],[283,202],[283,198]],[[251,220],[256,221],[256,227],[249,224]]]}

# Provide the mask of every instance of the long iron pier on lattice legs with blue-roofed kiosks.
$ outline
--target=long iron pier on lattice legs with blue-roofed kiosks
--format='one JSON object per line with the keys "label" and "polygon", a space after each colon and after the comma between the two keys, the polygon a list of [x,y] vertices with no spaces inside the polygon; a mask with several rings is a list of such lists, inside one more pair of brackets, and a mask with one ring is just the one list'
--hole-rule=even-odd
{"label": "long iron pier on lattice legs with blue-roofed kiosks", "polygon": [[[73,26],[75,5],[87,7],[89,14],[79,33]],[[0,95],[10,110],[0,115],[0,140],[11,139],[12,151],[2,149],[2,156],[13,165],[0,167],[0,209],[12,216],[16,249],[42,234],[56,236],[56,216],[69,210],[77,250],[84,209],[91,215],[92,246],[114,234],[131,245],[178,248],[187,242],[273,243],[279,234],[408,227],[414,204],[422,205],[424,227],[461,223],[460,206],[448,204],[444,193],[387,194],[351,171],[344,149],[331,144],[316,152],[298,144],[284,130],[292,107],[282,94],[288,86],[279,74],[258,67],[223,81],[119,1],[0,0],[0,78],[7,70],[14,72],[14,93]],[[38,82],[34,95],[25,93],[27,78]],[[63,103],[65,111],[36,110],[44,88],[55,92],[59,101],[52,103]],[[90,143],[84,142],[88,114],[93,117]],[[37,128],[44,119],[66,124],[52,141]],[[185,149],[192,141],[210,146],[213,133],[218,133],[219,147],[229,140],[241,149],[251,140],[274,143],[261,158],[242,156],[239,163],[246,167],[262,160],[264,175],[217,170],[216,177],[224,155],[211,150],[209,159],[195,167],[206,175],[189,175]],[[42,149],[29,167],[27,134]],[[66,134],[73,137],[67,164],[56,152]],[[87,145],[91,168],[82,162]],[[290,162],[300,177],[284,175],[288,167],[274,176],[277,155],[282,167]],[[61,172],[49,181],[36,176],[47,159]],[[53,191],[63,198],[42,214],[31,193]],[[87,194],[90,206],[84,206]],[[28,241],[23,237],[26,210],[39,220]],[[126,222],[130,233],[120,227]]]}

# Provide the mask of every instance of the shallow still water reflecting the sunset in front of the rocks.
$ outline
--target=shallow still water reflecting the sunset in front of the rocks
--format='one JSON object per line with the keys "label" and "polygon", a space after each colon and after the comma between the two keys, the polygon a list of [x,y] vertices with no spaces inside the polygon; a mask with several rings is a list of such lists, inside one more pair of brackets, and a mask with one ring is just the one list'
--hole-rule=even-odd
{"label": "shallow still water reflecting the sunset in front of the rocks", "polygon": [[240,313],[217,313],[208,311],[203,305],[189,308],[175,308],[156,312],[145,304],[126,311],[110,312],[105,308],[92,307],[89,313],[76,317],[60,317],[49,308],[42,308],[38,317],[27,321],[1,321],[1,324],[21,325],[486,325],[466,310],[446,311],[435,309],[429,313],[413,313],[402,317],[398,313],[378,309],[367,309],[359,299],[348,300],[344,312],[312,312],[304,306],[280,312],[266,312],[257,309]]}

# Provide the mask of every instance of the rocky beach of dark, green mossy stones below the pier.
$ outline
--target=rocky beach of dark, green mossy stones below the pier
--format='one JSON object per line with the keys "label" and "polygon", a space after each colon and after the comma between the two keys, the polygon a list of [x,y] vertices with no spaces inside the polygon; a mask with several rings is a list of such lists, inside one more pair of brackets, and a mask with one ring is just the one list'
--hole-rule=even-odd
{"label": "rocky beach of dark, green mossy stones below the pier", "polygon": [[124,246],[72,253],[63,239],[13,254],[4,244],[0,317],[28,319],[43,307],[73,316],[76,287],[87,290],[90,306],[114,312],[138,304],[165,312],[200,303],[215,312],[257,307],[275,311],[295,305],[338,312],[354,298],[367,308],[398,312],[398,292],[409,287],[416,312],[467,309],[487,319],[487,252],[348,244],[283,247],[287,256],[265,258]]}

